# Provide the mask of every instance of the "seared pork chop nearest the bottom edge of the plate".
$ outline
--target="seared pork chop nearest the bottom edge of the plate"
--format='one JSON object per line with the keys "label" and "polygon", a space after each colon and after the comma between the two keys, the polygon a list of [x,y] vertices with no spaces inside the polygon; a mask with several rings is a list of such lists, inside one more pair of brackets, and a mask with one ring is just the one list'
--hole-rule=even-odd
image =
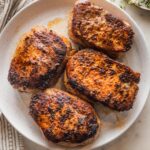
{"label": "seared pork chop nearest the bottom edge of the plate", "polygon": [[86,101],[58,89],[32,97],[30,114],[49,141],[66,146],[85,145],[99,134],[100,120]]}

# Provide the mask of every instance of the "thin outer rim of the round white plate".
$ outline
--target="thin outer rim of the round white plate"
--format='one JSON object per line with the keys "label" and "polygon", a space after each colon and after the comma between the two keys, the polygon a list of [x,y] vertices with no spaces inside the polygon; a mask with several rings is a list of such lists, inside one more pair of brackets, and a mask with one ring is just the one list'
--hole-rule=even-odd
{"label": "thin outer rim of the round white plate", "polygon": [[[10,24],[15,20],[15,18],[16,18],[18,15],[20,15],[21,13],[23,13],[23,11],[26,10],[26,9],[28,9],[29,7],[32,7],[32,6],[35,5],[36,3],[39,3],[40,1],[41,1],[41,0],[35,0],[35,1],[33,1],[33,2],[29,3],[29,4],[27,4],[27,5],[26,5],[25,7],[23,7],[21,10],[19,10],[19,11],[10,19],[10,21],[7,23],[7,25],[4,27],[4,29],[3,29],[2,32],[0,33],[0,39],[2,38],[2,36],[3,36],[3,34],[5,33],[5,31],[7,30],[7,28],[10,26]],[[129,20],[134,24],[134,26],[137,28],[138,32],[140,33],[141,38],[142,38],[143,41],[144,41],[145,48],[146,48],[145,51],[148,53],[148,58],[150,58],[150,51],[148,50],[148,45],[147,45],[147,42],[146,42],[146,40],[145,40],[145,36],[144,36],[142,30],[140,29],[140,27],[139,27],[139,26],[137,25],[137,23],[134,21],[134,19],[133,19],[126,11],[124,11],[124,10],[122,10],[120,7],[118,7],[117,4],[115,4],[115,3],[111,2],[111,1],[108,1],[108,0],[106,0],[106,3],[110,3],[110,4],[113,5],[116,9],[118,9],[119,11],[122,11],[122,12],[126,15],[126,17],[129,18]],[[148,61],[147,63],[149,64],[148,66],[150,66],[150,59],[148,59],[147,61]],[[147,68],[148,68],[148,67],[147,67]],[[148,72],[147,74],[150,75],[150,72]],[[143,103],[143,107],[141,108],[140,111],[138,111],[138,113],[137,113],[136,116],[132,119],[132,121],[131,121],[130,123],[128,123],[128,125],[126,126],[126,128],[124,128],[122,131],[120,131],[120,133],[119,133],[117,136],[114,136],[114,137],[109,138],[109,140],[107,140],[107,142],[105,142],[105,143],[102,143],[101,146],[93,147],[92,149],[102,147],[102,146],[104,146],[104,145],[106,145],[106,144],[108,144],[108,143],[110,143],[110,142],[113,142],[114,140],[118,139],[120,136],[122,136],[122,135],[136,122],[137,118],[140,116],[141,112],[143,111],[144,106],[145,106],[145,103],[146,103],[146,101],[148,100],[148,97],[149,97],[149,93],[150,93],[150,78],[148,78],[148,81],[147,81],[147,82],[149,83],[149,86],[147,87],[147,95],[146,95],[146,97],[145,97],[145,101],[144,101],[144,103]],[[1,110],[1,112],[3,113],[3,109],[1,109],[1,106],[0,106],[0,110]],[[33,142],[33,143],[35,143],[35,144],[37,144],[37,145],[39,145],[39,146],[42,146],[42,147],[44,147],[44,148],[47,148],[47,147],[45,147],[44,144],[42,145],[42,144],[36,142],[35,140],[31,139],[31,138],[28,137],[27,135],[25,135],[22,131],[20,131],[19,129],[17,129],[17,128],[15,127],[15,125],[13,125],[13,124],[11,123],[11,121],[9,120],[9,117],[8,117],[7,115],[5,115],[5,114],[3,114],[3,115],[5,116],[5,118],[7,119],[7,121],[8,121],[21,135],[23,135],[25,138],[27,138],[28,140],[30,140],[31,142]]]}

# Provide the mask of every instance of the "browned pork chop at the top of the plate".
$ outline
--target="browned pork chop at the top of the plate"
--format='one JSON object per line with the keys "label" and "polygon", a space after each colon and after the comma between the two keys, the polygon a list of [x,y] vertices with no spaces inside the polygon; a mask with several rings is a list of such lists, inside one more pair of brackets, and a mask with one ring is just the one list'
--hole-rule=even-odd
{"label": "browned pork chop at the top of the plate", "polygon": [[70,38],[112,57],[131,48],[133,35],[129,23],[89,1],[76,3],[70,14]]}

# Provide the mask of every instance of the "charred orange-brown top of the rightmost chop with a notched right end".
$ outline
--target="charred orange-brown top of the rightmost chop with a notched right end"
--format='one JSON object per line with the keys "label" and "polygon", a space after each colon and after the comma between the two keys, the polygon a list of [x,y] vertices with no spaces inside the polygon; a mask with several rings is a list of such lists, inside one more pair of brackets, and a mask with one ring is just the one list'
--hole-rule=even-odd
{"label": "charred orange-brown top of the rightmost chop with a notched right end", "polygon": [[[81,50],[69,59],[65,85],[69,92],[101,102],[118,111],[132,108],[140,74],[94,50]],[[74,90],[72,90],[74,89]]]}

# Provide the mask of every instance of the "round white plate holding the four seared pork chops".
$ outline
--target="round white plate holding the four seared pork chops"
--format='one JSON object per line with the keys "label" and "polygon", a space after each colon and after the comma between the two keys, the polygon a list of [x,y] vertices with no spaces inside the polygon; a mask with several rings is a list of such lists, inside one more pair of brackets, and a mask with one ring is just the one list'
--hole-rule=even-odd
{"label": "round white plate holding the four seared pork chops", "polygon": [[[123,61],[136,71],[141,72],[141,81],[134,107],[129,112],[116,113],[99,105],[98,113],[103,127],[99,138],[92,144],[79,149],[93,149],[100,147],[124,133],[136,120],[146,102],[150,87],[150,55],[146,47],[143,34],[137,24],[124,11],[104,0],[92,0],[95,4],[104,7],[116,16],[129,21],[135,32],[132,49],[126,53]],[[49,143],[43,138],[39,128],[28,113],[30,96],[19,94],[7,81],[8,69],[16,44],[23,33],[32,26],[45,24],[54,18],[63,18],[54,27],[56,32],[66,35],[67,15],[75,0],[41,0],[23,9],[7,25],[0,37],[0,108],[8,121],[25,137],[33,142],[51,149],[64,149]]]}

